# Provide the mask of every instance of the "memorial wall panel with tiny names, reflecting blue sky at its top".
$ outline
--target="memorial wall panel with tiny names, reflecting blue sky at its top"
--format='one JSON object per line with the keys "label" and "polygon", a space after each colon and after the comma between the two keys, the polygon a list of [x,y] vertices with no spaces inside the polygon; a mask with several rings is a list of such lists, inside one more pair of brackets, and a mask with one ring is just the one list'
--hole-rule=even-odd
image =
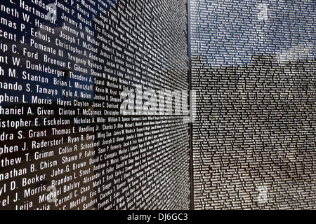
{"label": "memorial wall panel with tiny names, reflecting blue sky at its top", "polygon": [[191,1],[195,209],[315,209],[315,1]]}

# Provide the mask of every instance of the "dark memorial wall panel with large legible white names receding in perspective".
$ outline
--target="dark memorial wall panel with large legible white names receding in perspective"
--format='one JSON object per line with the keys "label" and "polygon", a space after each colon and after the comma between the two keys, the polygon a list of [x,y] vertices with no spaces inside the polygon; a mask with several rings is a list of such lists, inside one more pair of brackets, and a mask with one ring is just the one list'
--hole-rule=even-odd
{"label": "dark memorial wall panel with large legible white names receding in perspective", "polygon": [[190,209],[186,1],[0,6],[0,209]]}

